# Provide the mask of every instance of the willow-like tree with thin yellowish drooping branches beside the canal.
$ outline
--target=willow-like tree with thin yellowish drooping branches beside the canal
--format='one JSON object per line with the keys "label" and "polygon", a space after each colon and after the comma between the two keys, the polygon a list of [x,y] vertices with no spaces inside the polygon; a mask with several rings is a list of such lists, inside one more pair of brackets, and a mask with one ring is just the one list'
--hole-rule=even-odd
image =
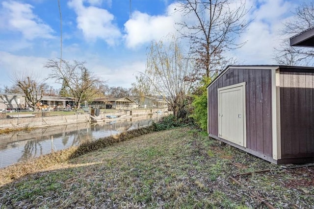
{"label": "willow-like tree with thin yellowish drooping branches beside the canal", "polygon": [[152,94],[165,97],[176,116],[184,108],[185,97],[193,80],[190,77],[193,75],[190,64],[175,38],[169,45],[162,41],[152,42],[143,78],[150,84]]}

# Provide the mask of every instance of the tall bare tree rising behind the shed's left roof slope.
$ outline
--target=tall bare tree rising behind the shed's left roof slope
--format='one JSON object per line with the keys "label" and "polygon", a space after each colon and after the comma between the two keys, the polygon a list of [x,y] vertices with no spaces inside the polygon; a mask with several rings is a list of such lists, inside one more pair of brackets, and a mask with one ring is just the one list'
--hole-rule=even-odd
{"label": "tall bare tree rising behind the shed's left roof slope", "polygon": [[229,63],[226,51],[245,44],[236,43],[248,25],[245,1],[181,0],[176,10],[188,17],[187,21],[177,23],[178,31],[190,41],[200,77],[221,70],[221,66]]}

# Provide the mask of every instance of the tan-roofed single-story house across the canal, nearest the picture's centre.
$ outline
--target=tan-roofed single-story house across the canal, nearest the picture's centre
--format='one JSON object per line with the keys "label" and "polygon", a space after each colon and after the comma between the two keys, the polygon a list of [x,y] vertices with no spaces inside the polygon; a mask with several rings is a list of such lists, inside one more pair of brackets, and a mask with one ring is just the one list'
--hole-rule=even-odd
{"label": "tan-roofed single-story house across the canal, nearest the picture's centre", "polygon": [[110,109],[110,108],[137,108],[137,103],[127,96],[124,97],[101,97],[92,100],[91,108]]}

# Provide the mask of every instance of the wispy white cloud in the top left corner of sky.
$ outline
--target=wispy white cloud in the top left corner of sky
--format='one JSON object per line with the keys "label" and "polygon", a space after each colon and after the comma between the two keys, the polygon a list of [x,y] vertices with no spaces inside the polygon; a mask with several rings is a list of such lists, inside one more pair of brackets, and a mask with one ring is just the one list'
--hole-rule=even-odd
{"label": "wispy white cloud in the top left corner of sky", "polygon": [[[33,6],[17,1],[3,1],[1,9],[1,30],[18,31],[27,40],[53,38],[52,28],[33,14]],[[2,19],[1,18],[1,19]]]}

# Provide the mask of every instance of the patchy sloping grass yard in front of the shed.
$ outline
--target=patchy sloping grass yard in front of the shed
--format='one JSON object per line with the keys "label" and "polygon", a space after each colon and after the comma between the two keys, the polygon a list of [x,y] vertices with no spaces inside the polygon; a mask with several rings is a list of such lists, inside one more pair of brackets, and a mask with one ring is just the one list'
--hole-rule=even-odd
{"label": "patchy sloping grass yard in front of the shed", "polygon": [[2,182],[0,208],[314,208],[313,166],[281,169],[188,128],[70,159]]}

